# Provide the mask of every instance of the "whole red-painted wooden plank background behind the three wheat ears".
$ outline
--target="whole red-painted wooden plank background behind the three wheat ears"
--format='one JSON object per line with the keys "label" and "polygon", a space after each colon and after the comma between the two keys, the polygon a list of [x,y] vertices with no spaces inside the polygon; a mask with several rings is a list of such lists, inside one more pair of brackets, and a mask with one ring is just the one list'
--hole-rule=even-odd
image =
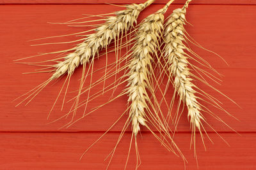
{"label": "whole red-painted wooden plank background behind the three wheat ears", "polygon": [[[81,14],[108,13],[120,9],[117,6],[103,4],[116,1],[4,1],[0,0],[0,52],[1,52],[1,81],[0,81],[0,169],[104,169],[108,160],[105,157],[115,146],[126,118],[95,145],[79,162],[81,154],[99,138],[108,127],[115,122],[124,111],[126,97],[113,104],[108,104],[102,110],[95,111],[89,117],[77,122],[68,129],[58,130],[67,123],[61,120],[47,124],[54,118],[60,117],[58,107],[47,120],[54,97],[58,94],[61,82],[45,88],[28,106],[15,108],[13,99],[46,80],[49,74],[22,74],[33,71],[36,67],[15,64],[13,60],[38,52],[59,50],[70,45],[30,46],[35,42],[30,39],[45,36],[56,36],[71,32],[83,31],[83,28],[66,27],[65,25],[47,24],[47,22],[65,22],[81,17]],[[142,2],[142,1],[140,1]],[[161,8],[165,1],[159,0],[141,13],[141,18]],[[135,3],[135,1],[118,1]],[[136,2],[136,3],[139,3]],[[180,7],[183,0],[177,0],[170,7],[170,12]],[[61,5],[66,4],[66,5]],[[230,64],[225,66],[220,59],[208,52],[199,50],[212,66],[224,74],[223,82],[215,85],[221,92],[234,99],[241,109],[225,97],[216,94],[224,108],[239,121],[225,113],[218,113],[228,125],[209,118],[209,124],[229,143],[226,145],[211,129],[207,129],[214,145],[205,140],[205,152],[200,138],[197,140],[199,169],[256,169],[256,1],[252,0],[198,0],[194,1],[188,10],[188,21],[193,26],[187,30],[202,46],[218,52]],[[74,38],[64,38],[65,41]],[[58,40],[58,39],[53,39]],[[40,41],[42,42],[42,41]],[[111,57],[113,55],[110,55]],[[114,57],[113,57],[114,58]],[[45,58],[44,58],[45,59]],[[43,60],[43,59],[42,59]],[[104,61],[98,60],[104,66]],[[72,83],[78,85],[81,69],[74,74]],[[63,81],[62,81],[63,82]],[[211,92],[211,90],[210,90]],[[108,97],[108,96],[107,96]],[[106,96],[99,97],[90,105],[98,106]],[[60,105],[58,105],[60,106]],[[142,132],[143,138],[138,138],[141,157],[140,169],[184,169],[182,160],[167,152],[147,131]],[[131,133],[127,132],[113,158],[110,168],[123,169],[129,149]],[[189,149],[191,132],[186,115],[181,118],[179,132],[175,142],[188,160],[187,169],[197,169],[193,150]],[[128,169],[134,169],[136,156],[131,150]]]}

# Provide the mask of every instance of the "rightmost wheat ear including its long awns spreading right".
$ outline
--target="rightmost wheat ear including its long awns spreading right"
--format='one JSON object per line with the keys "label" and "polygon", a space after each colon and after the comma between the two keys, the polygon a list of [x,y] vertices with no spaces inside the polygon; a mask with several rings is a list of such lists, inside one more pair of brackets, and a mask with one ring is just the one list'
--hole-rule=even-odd
{"label": "rightmost wheat ear including its long awns spreading right", "polygon": [[[193,38],[191,38],[189,36],[188,32],[186,32],[186,30],[184,29],[184,25],[186,24],[186,17],[185,17],[186,9],[188,8],[188,5],[191,1],[192,0],[188,0],[188,1],[186,1],[186,3],[184,4],[184,6],[182,8],[173,10],[173,13],[170,15],[166,24],[164,25],[164,41],[165,41],[164,60],[166,61],[166,65],[164,67],[166,67],[166,66],[168,67],[168,71],[170,72],[168,75],[169,81],[172,81],[173,86],[175,87],[175,93],[177,92],[177,94],[179,94],[179,106],[177,109],[177,117],[176,117],[177,122],[179,122],[178,111],[179,111],[180,103],[183,102],[184,104],[186,104],[186,107],[188,108],[188,119],[190,118],[189,122],[191,125],[191,131],[192,131],[191,145],[193,142],[194,155],[195,155],[195,158],[197,161],[196,129],[198,129],[198,131],[200,132],[200,136],[201,136],[202,142],[204,144],[202,130],[205,131],[205,128],[204,128],[204,125],[202,124],[202,122],[209,125],[207,123],[207,121],[205,120],[204,115],[202,114],[202,111],[209,113],[212,117],[216,118],[216,120],[227,125],[223,120],[221,120],[220,117],[218,117],[217,115],[212,113],[211,110],[209,110],[207,107],[204,106],[204,104],[200,103],[199,101],[204,101],[207,104],[211,104],[215,108],[218,108],[219,110],[224,111],[231,117],[233,117],[233,116],[230,113],[228,113],[228,111],[226,111],[225,109],[223,109],[220,106],[221,103],[220,103],[220,101],[218,101],[218,99],[212,97],[210,94],[207,94],[206,92],[204,92],[204,90],[200,89],[199,87],[196,87],[196,85],[193,83],[193,81],[195,79],[202,81],[202,83],[204,83],[211,89],[213,89],[216,92],[220,93],[221,95],[227,97],[225,94],[221,93],[218,89],[212,87],[212,85],[210,85],[204,79],[204,76],[202,76],[198,71],[203,73],[208,78],[211,78],[211,80],[213,80],[215,82],[217,82],[216,80],[219,80],[218,78],[213,76],[211,73],[204,71],[204,69],[200,69],[199,67],[194,66],[188,60],[188,59],[195,60],[202,66],[207,67],[208,69],[211,69],[215,73],[218,73],[215,69],[213,69],[211,67],[211,65],[207,61],[205,61],[204,59],[202,59],[202,57],[200,57],[195,52],[193,52],[184,43],[184,42],[186,42],[186,40],[188,40],[191,43],[193,43],[193,45],[196,45],[204,50],[207,50],[204,47],[202,47],[201,45],[199,45],[198,43],[196,43],[196,41]],[[187,52],[185,52],[185,50]],[[207,51],[211,52],[211,50],[207,50]],[[191,55],[189,55],[188,52],[191,53],[193,55],[193,57]],[[211,52],[211,53],[214,53],[214,52]],[[216,54],[216,53],[214,53],[214,54]],[[218,55],[218,54],[216,54],[216,55]],[[220,55],[218,55],[218,57],[220,57],[222,60],[224,60]],[[197,59],[195,59],[195,58],[197,58]],[[226,64],[227,64],[227,62],[226,62]],[[200,77],[191,73],[189,71],[190,69],[188,66],[191,66],[193,68],[193,71],[196,71],[196,73],[198,73]],[[172,76],[174,77],[174,81],[171,80]],[[214,80],[214,78],[216,80]],[[173,95],[173,99],[174,99],[174,97],[175,97],[175,94]],[[207,100],[202,99],[201,97],[205,97]],[[236,102],[234,102],[229,97],[227,97],[227,99],[232,101],[232,103],[236,104]],[[173,104],[173,100],[172,100],[172,104]],[[170,108],[172,108],[172,106]],[[216,130],[211,125],[209,125],[209,127],[211,127],[211,129],[214,132],[216,132]],[[229,125],[227,125],[227,127],[230,128],[232,131],[236,132]],[[177,125],[175,128],[177,128]],[[205,131],[205,134],[207,135],[209,140],[212,142],[211,138],[208,136],[206,131]],[[216,134],[218,134],[218,132],[216,132]],[[218,136],[220,136],[220,134],[218,134]],[[223,139],[221,136],[220,136],[220,138]],[[225,141],[225,139],[223,139],[223,141]],[[227,141],[225,141],[225,143],[227,143]],[[227,143],[227,145],[228,145],[228,143]],[[205,147],[205,144],[204,144],[204,147]],[[206,150],[206,148],[205,148],[205,150]]]}

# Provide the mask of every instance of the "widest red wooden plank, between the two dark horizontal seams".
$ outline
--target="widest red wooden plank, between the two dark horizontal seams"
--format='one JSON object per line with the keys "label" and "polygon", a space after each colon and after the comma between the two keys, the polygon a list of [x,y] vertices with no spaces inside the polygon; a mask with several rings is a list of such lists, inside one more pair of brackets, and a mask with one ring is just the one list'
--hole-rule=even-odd
{"label": "widest red wooden plank, between the two dark horizontal seams", "polygon": [[[173,5],[172,11],[179,5]],[[39,83],[42,83],[49,77],[49,74],[21,74],[23,72],[31,72],[38,67],[15,64],[13,60],[20,57],[35,55],[38,52],[50,52],[70,48],[70,45],[60,46],[29,46],[33,43],[28,42],[29,39],[42,38],[45,36],[55,36],[60,34],[68,34],[71,32],[83,31],[83,28],[66,27],[63,25],[47,24],[47,22],[64,22],[78,18],[82,13],[95,14],[108,13],[120,8],[105,5],[90,5],[90,8],[79,5],[36,5],[36,6],[0,6],[0,18],[2,21],[0,27],[0,51],[2,54],[2,66],[0,67],[1,83],[0,83],[0,131],[57,131],[61,125],[67,124],[67,120],[61,120],[51,125],[45,125],[61,115],[67,113],[69,104],[63,111],[60,111],[61,102],[56,105],[56,110],[52,113],[50,120],[46,120],[47,113],[51,110],[55,97],[58,95],[63,80],[58,81],[55,85],[46,87],[35,100],[28,106],[19,106],[15,108],[17,102],[12,103],[13,99],[33,89]],[[154,5],[152,8],[145,10],[140,20],[161,8],[161,5]],[[58,13],[56,13],[58,11]],[[168,11],[168,14],[170,14]],[[196,50],[204,59],[208,60],[212,66],[216,67],[221,74],[224,74],[222,85],[216,85],[221,92],[234,99],[242,109],[237,108],[230,101],[220,94],[214,93],[211,89],[207,92],[214,94],[215,97],[223,102],[224,108],[241,122],[230,118],[227,114],[214,110],[214,113],[220,115],[228,125],[236,129],[236,131],[253,132],[256,130],[254,119],[256,117],[255,110],[255,37],[254,28],[255,6],[191,6],[188,10],[188,21],[194,26],[187,26],[187,30],[193,38],[196,39],[206,48],[220,53],[230,63],[230,67],[218,59],[215,55],[203,50]],[[8,16],[8,17],[6,17]],[[234,17],[236,16],[236,17]],[[72,41],[76,37],[67,37],[63,39],[53,39],[52,41]],[[50,57],[51,58],[51,57]],[[49,57],[38,57],[37,60],[45,60]],[[109,54],[109,62],[114,61],[115,56]],[[30,61],[30,60],[26,60]],[[95,69],[103,67],[105,59],[95,62]],[[81,68],[73,75],[70,90],[76,90],[79,85]],[[102,76],[101,73],[95,74],[97,79]],[[198,83],[198,86],[204,85]],[[124,87],[120,87],[122,90]],[[102,89],[102,85],[92,90],[98,92]],[[170,93],[171,94],[171,93]],[[72,97],[74,93],[68,94]],[[97,100],[92,101],[88,106],[94,108],[108,101],[108,95],[100,96]],[[70,98],[69,98],[70,99]],[[70,129],[63,131],[106,131],[108,127],[124,111],[127,97],[122,97],[115,101],[115,107],[108,104],[99,111],[96,111],[90,117],[86,117],[83,121],[78,122]],[[82,113],[77,113],[77,116]],[[120,123],[116,125],[113,131],[120,131],[126,120],[126,115]],[[217,131],[230,131],[225,125],[213,120],[207,116],[207,120]],[[182,116],[179,124],[179,131],[190,131],[186,115]],[[207,131],[212,131],[207,128]]]}

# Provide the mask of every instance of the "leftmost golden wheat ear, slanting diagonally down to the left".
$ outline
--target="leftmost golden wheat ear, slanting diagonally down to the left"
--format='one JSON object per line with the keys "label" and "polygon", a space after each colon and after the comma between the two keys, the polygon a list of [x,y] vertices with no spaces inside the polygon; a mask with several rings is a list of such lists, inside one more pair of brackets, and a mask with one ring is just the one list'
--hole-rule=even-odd
{"label": "leftmost golden wheat ear, slanting diagonally down to the left", "polygon": [[[86,36],[86,38],[82,39],[83,43],[79,43],[76,47],[68,50],[51,52],[63,53],[74,51],[72,53],[68,53],[68,55],[63,57],[63,61],[57,61],[58,64],[54,64],[52,66],[54,67],[54,73],[52,73],[52,76],[44,83],[38,85],[35,89],[32,89],[26,94],[22,95],[25,96],[30,93],[29,96],[22,100],[19,104],[31,97],[31,99],[29,99],[29,101],[26,103],[28,104],[42,89],[44,89],[47,84],[49,84],[52,80],[60,78],[66,73],[68,73],[67,79],[69,82],[70,76],[74,73],[74,70],[76,69],[76,67],[79,66],[79,64],[85,66],[86,63],[92,63],[95,55],[99,56],[99,51],[102,50],[102,48],[107,48],[112,40],[116,41],[119,38],[120,33],[126,33],[132,27],[132,25],[136,24],[136,20],[140,12],[147,8],[147,6],[149,6],[153,2],[154,0],[148,0],[142,4],[129,4],[126,6],[125,10],[116,11],[115,16],[106,17],[106,19],[104,19],[106,20],[104,24],[100,25],[96,29],[91,30],[95,31],[95,33],[89,34]],[[68,22],[68,24],[72,24],[72,22]],[[81,82],[82,80],[83,78],[81,79]],[[17,106],[19,104],[17,104]]]}

